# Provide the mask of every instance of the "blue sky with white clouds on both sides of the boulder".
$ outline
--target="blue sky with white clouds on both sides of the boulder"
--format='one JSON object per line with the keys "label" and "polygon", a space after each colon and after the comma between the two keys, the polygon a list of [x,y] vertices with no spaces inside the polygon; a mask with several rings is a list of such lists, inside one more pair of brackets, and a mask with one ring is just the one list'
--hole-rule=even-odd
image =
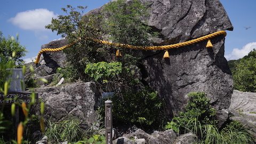
{"label": "blue sky with white clouds on both sides of the boulder", "polygon": [[[52,17],[63,14],[61,7],[87,5],[89,11],[107,2],[109,0],[1,0],[0,30],[5,37],[19,34],[19,42],[28,51],[25,59],[32,58],[41,45],[60,38],[44,26]],[[256,48],[256,1],[221,0],[221,3],[234,26],[234,31],[228,31],[226,37],[225,57],[242,58]]]}

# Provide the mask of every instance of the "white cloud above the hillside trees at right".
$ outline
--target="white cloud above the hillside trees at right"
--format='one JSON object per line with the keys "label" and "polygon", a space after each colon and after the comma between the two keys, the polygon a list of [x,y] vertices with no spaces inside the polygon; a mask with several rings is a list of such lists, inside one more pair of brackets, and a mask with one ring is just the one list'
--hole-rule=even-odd
{"label": "white cloud above the hillside trees at right", "polygon": [[233,51],[230,54],[225,55],[225,58],[227,60],[237,60],[243,58],[245,55],[247,55],[249,52],[251,52],[253,49],[256,49],[256,42],[246,44],[242,47],[242,49],[233,49]]}

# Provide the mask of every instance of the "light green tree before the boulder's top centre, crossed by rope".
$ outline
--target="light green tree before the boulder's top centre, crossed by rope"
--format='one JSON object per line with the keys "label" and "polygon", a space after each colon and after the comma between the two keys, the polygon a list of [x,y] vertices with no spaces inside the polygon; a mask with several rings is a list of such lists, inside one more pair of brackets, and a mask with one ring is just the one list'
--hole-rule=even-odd
{"label": "light green tree before the boulder's top centre, crossed by rope", "polygon": [[[109,39],[115,43],[131,45],[149,45],[149,33],[151,27],[146,25],[143,18],[148,16],[146,3],[142,4],[138,0],[111,1],[102,9],[104,20],[102,29],[109,36]],[[156,36],[158,33],[153,33]],[[122,49],[124,55],[122,61],[124,66],[131,61],[138,61],[138,51]],[[136,57],[134,57],[137,55]]]}

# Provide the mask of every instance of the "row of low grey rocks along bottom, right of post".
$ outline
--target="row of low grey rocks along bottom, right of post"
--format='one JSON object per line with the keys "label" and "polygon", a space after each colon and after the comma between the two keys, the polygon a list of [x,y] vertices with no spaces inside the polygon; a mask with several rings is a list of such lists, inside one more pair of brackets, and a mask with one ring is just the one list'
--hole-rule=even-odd
{"label": "row of low grey rocks along bottom, right of post", "polygon": [[116,144],[139,144],[145,140],[146,144],[190,144],[196,141],[196,135],[193,133],[182,134],[179,137],[173,132],[173,130],[166,130],[163,132],[154,131],[152,134],[148,134],[141,129],[136,130],[135,132],[125,134],[123,137],[120,137],[113,141]]}

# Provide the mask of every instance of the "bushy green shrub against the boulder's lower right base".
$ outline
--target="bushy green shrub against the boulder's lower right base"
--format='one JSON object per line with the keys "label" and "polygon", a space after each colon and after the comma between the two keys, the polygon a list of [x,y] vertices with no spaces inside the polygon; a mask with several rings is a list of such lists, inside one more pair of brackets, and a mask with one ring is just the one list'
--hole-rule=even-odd
{"label": "bushy green shrub against the boulder's lower right base", "polygon": [[202,135],[202,126],[205,124],[215,125],[216,110],[210,105],[210,100],[203,92],[191,92],[188,94],[189,101],[185,111],[174,117],[172,122],[167,123],[166,129],[171,129],[178,133],[192,131]]}

